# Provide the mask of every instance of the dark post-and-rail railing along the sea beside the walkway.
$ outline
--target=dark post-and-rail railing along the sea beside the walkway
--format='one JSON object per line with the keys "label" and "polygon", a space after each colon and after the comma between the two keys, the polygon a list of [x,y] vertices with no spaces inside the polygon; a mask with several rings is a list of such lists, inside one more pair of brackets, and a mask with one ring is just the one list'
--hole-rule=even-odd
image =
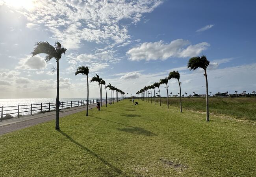
{"label": "dark post-and-rail railing along the sea beside the walkway", "polygon": [[[112,101],[116,100],[111,99]],[[100,99],[96,100],[89,100],[89,105],[99,102]],[[107,101],[110,101],[110,98],[107,99]],[[101,100],[102,103],[106,102],[106,99]],[[59,109],[67,109],[71,107],[78,107],[86,105],[87,100],[78,100],[78,101],[62,101],[61,105],[59,106]],[[16,109],[15,109],[16,108]],[[17,106],[2,106],[1,107],[1,117],[0,120],[3,119],[3,117],[6,114],[15,114],[15,116],[23,116],[21,113],[25,113],[24,115],[43,112],[43,111],[51,111],[56,109],[56,103],[39,103],[39,104],[30,104],[30,105],[17,105]]]}

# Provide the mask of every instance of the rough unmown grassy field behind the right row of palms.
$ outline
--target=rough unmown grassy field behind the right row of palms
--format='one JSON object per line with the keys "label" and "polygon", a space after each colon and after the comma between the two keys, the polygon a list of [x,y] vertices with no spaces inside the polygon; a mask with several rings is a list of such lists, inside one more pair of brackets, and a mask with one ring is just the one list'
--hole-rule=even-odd
{"label": "rough unmown grassy field behind the right row of palms", "polygon": [[[152,98],[152,101],[154,98]],[[150,98],[149,98],[150,101]],[[159,98],[156,98],[159,102]],[[167,104],[167,98],[161,98]],[[169,105],[179,107],[180,98],[169,98]],[[182,107],[194,111],[206,112],[206,98],[182,98]],[[256,98],[209,98],[210,114],[226,114],[241,120],[256,120]]]}

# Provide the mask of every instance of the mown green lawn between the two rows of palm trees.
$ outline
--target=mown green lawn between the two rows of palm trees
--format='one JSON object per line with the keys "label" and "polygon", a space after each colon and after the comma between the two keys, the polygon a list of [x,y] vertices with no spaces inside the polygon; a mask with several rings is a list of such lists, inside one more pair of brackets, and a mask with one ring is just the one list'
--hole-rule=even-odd
{"label": "mown green lawn between the two rows of palm trees", "polygon": [[256,176],[255,123],[131,102],[1,135],[0,176]]}

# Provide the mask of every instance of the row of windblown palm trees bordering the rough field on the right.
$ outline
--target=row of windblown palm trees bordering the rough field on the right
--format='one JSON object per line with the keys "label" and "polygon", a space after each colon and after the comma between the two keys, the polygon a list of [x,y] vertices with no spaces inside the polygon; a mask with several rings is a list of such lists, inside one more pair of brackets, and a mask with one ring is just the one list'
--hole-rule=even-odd
{"label": "row of windblown palm trees bordering the rough field on the right", "polygon": [[[187,63],[187,68],[189,68],[189,70],[196,70],[197,68],[202,68],[204,70],[204,76],[206,79],[206,121],[210,121],[209,119],[209,101],[208,101],[208,79],[207,79],[207,72],[206,69],[209,66],[210,61],[207,60],[207,57],[202,55],[201,57],[192,57],[189,59],[188,63]],[[156,104],[156,95],[155,95],[155,89],[158,88],[159,91],[159,97],[160,97],[160,106],[161,106],[161,92],[160,92],[160,85],[165,84],[166,85],[166,90],[167,90],[167,108],[169,108],[169,93],[168,93],[168,81],[170,79],[177,79],[178,80],[178,84],[180,87],[180,74],[178,71],[173,71],[170,72],[169,75],[167,77],[165,77],[164,79],[160,79],[159,82],[154,83],[153,85],[149,85],[149,86],[145,86],[143,89],[139,90],[138,92],[136,92],[137,96],[144,101],[148,100],[149,103],[149,94],[151,94],[151,103],[152,103],[152,90],[154,89],[154,99],[155,99],[155,104]],[[150,89],[150,93],[149,93],[149,89]],[[181,93],[181,87],[180,87],[180,93]],[[187,92],[185,92],[185,94],[187,94]],[[145,97],[146,95],[146,97]],[[182,112],[182,95],[180,95],[180,112]],[[148,99],[147,99],[148,98]]]}

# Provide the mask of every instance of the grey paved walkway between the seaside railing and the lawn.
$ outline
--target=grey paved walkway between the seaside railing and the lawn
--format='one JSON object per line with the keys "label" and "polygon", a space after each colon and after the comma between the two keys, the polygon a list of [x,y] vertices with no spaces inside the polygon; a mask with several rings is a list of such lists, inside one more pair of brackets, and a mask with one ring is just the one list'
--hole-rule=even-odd
{"label": "grey paved walkway between the seaside railing and the lawn", "polygon": [[[110,103],[110,101],[108,102]],[[97,103],[90,104],[89,108],[95,108]],[[102,106],[106,105],[102,102]],[[79,107],[72,107],[69,109],[61,109],[59,111],[59,118],[74,114],[76,112],[86,111],[86,106],[79,106]],[[7,120],[2,120],[0,122],[0,135],[9,133],[11,131],[23,129],[26,127],[30,127],[32,125],[40,124],[43,122],[47,122],[50,120],[55,120],[56,118],[56,112],[45,112],[43,114],[34,114],[34,115],[28,115],[28,116],[22,116],[20,118],[12,118]]]}

